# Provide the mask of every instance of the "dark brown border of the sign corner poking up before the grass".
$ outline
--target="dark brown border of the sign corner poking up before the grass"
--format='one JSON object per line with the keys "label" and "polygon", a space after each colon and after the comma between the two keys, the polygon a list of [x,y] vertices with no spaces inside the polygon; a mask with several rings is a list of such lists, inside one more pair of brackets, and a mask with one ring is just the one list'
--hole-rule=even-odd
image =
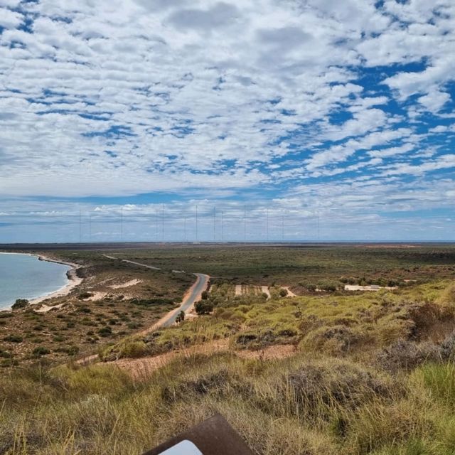
{"label": "dark brown border of the sign corner poking up before the grass", "polygon": [[162,454],[181,441],[191,441],[203,455],[253,455],[239,434],[219,414],[144,455]]}

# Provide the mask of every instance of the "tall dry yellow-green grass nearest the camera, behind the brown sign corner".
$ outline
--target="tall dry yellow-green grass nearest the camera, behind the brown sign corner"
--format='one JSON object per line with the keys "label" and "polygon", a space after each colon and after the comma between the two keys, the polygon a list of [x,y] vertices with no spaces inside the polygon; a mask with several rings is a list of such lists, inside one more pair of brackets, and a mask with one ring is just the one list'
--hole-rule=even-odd
{"label": "tall dry yellow-green grass nearest the camera, behind the brown sign corner", "polygon": [[0,380],[0,452],[138,454],[221,412],[257,454],[453,454],[455,366],[385,373],[299,354],[179,358],[134,382],[112,365]]}

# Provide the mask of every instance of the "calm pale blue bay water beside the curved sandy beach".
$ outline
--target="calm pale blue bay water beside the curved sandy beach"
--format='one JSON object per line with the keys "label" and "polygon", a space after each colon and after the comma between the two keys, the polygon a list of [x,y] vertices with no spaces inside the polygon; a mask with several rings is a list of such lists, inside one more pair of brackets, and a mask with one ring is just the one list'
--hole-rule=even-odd
{"label": "calm pale blue bay water beside the curved sandy beach", "polygon": [[39,261],[36,256],[0,253],[0,310],[16,299],[36,299],[68,284],[70,267]]}

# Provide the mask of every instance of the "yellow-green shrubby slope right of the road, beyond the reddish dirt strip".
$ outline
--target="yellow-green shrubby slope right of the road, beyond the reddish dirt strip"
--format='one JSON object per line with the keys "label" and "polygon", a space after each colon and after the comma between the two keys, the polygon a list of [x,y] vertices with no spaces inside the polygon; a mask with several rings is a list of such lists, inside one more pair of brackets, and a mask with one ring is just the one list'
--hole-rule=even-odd
{"label": "yellow-green shrubby slope right of the road, beyond the reddish dirt strip", "polygon": [[[451,282],[415,285],[396,291],[280,297],[234,296],[232,286],[214,285],[210,316],[184,321],[146,336],[130,336],[102,350],[102,360],[139,358],[227,339],[232,350],[261,350],[291,344],[296,350],[365,356],[400,338],[441,338],[453,328]],[[317,295],[316,295],[317,294]]]}

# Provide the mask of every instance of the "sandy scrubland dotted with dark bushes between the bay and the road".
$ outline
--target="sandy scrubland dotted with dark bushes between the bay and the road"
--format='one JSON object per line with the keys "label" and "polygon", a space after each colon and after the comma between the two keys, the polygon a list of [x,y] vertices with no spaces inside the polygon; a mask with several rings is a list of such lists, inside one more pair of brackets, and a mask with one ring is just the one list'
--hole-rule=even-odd
{"label": "sandy scrubland dotted with dark bushes between the bay and the road", "polygon": [[[176,308],[196,279],[108,259],[102,252],[52,255],[80,264],[82,284],[68,296],[37,305],[18,300],[13,311],[0,311],[0,370],[37,357],[64,361],[97,353]],[[45,307],[49,311],[40,312]]]}

